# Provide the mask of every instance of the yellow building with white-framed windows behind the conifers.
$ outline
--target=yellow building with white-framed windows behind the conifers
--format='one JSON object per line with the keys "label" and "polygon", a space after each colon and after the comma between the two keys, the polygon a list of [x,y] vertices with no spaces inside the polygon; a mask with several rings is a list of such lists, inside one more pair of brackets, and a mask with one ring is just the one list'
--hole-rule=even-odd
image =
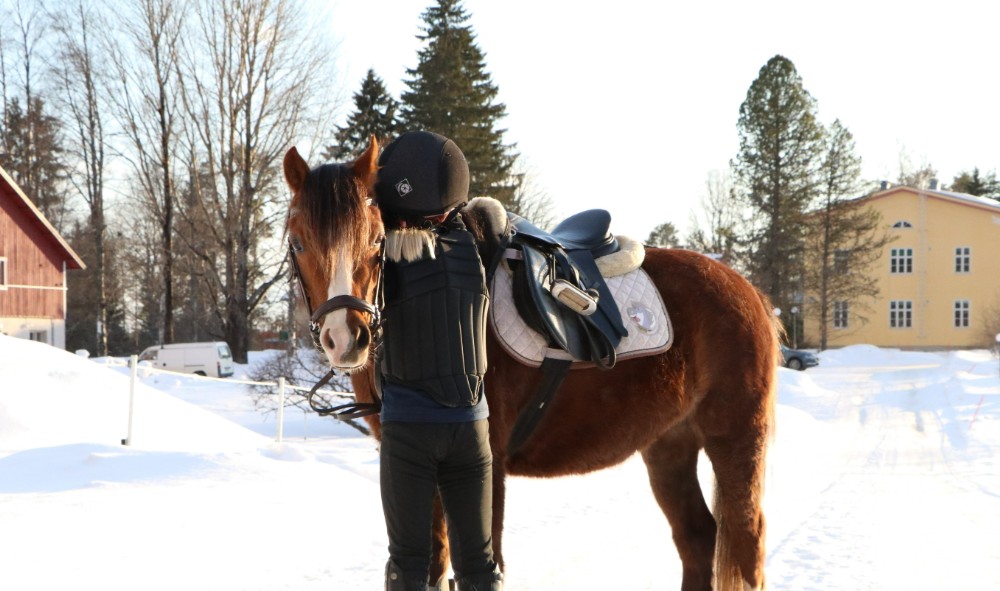
{"label": "yellow building with white-framed windows behind the conifers", "polygon": [[[861,302],[832,302],[827,346],[992,347],[987,327],[1000,314],[1000,202],[910,187],[866,200],[895,239],[873,268],[850,269],[877,281],[879,295],[864,302],[868,310]],[[819,326],[809,308],[804,332],[814,343]]]}

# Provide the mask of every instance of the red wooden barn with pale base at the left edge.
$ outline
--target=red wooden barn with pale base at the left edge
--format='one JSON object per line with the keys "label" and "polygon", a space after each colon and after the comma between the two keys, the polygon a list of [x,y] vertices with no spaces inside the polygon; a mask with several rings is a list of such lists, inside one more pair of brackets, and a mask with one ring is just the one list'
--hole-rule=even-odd
{"label": "red wooden barn with pale base at the left edge", "polygon": [[0,168],[0,333],[66,348],[66,274],[85,267]]}

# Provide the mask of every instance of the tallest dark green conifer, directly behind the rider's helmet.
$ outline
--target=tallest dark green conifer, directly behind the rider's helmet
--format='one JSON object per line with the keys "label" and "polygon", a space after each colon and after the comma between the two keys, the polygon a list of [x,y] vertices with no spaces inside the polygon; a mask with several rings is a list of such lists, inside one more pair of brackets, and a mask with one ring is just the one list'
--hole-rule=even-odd
{"label": "tallest dark green conifer, directly behind the rider's helmet", "polygon": [[505,205],[513,201],[517,155],[498,129],[506,106],[496,102],[493,84],[469,15],[460,0],[437,0],[421,17],[424,42],[419,64],[408,69],[409,91],[402,95],[402,119],[410,130],[424,129],[451,138],[469,161],[469,196],[487,195]]}

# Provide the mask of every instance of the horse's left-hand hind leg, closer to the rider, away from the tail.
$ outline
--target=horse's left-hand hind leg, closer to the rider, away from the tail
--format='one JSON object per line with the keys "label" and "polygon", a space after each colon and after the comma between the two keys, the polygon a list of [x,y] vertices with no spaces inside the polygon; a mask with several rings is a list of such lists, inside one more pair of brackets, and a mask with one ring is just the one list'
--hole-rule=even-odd
{"label": "horse's left-hand hind leg, closer to the rider, away from the tail", "polygon": [[649,483],[673,530],[684,568],[681,591],[711,591],[715,520],[698,484],[699,443],[687,422],[642,451]]}

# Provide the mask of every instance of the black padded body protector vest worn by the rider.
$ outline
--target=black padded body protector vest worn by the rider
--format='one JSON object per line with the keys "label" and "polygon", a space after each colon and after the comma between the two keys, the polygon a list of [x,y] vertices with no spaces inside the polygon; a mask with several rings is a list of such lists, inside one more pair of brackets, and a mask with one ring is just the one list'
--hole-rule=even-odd
{"label": "black padded body protector vest worn by the rider", "polygon": [[382,378],[438,403],[474,406],[486,374],[486,272],[456,216],[416,260],[386,260]]}

